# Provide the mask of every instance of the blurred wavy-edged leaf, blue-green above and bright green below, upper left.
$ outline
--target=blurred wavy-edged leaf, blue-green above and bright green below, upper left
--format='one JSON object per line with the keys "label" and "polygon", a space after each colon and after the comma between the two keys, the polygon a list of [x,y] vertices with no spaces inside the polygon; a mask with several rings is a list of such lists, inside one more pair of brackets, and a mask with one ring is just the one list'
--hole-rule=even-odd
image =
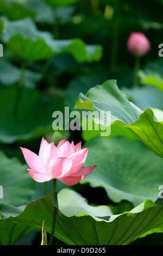
{"label": "blurred wavy-edged leaf, blue-green above and bright green below, upper left", "polygon": [[102,47],[88,45],[80,39],[53,40],[48,32],[40,32],[30,19],[7,22],[2,39],[12,51],[27,60],[39,60],[68,52],[78,62],[92,62],[101,58]]}

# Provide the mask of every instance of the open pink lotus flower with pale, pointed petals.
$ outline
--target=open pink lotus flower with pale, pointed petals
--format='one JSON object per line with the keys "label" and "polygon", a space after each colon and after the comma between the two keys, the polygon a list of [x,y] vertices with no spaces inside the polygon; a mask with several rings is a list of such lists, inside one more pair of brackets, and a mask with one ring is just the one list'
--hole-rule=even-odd
{"label": "open pink lotus flower with pale, pointed petals", "polygon": [[42,138],[39,155],[29,149],[21,148],[30,169],[30,177],[37,182],[58,179],[68,186],[73,186],[89,175],[96,166],[83,167],[88,148],[81,149],[82,143],[77,145],[65,139],[55,147]]}

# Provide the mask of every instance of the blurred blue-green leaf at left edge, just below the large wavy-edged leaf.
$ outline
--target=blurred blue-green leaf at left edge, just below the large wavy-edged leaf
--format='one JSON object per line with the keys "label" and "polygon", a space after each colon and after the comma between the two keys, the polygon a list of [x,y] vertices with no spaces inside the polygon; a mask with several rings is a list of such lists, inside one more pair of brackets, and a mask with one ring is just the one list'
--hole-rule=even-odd
{"label": "blurred blue-green leaf at left edge, just below the large wavy-edged leaf", "polygon": [[[3,58],[1,60],[0,76],[0,81],[4,86],[12,86],[20,80],[21,69],[18,69]],[[40,74],[26,70],[24,75],[24,86],[27,88],[35,88],[39,78]]]}

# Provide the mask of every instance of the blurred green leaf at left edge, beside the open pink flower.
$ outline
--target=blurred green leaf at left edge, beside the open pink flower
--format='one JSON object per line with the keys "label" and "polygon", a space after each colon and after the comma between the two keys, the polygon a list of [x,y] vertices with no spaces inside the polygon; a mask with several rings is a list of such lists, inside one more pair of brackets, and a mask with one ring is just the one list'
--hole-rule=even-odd
{"label": "blurred green leaf at left edge, beside the open pink flower", "polygon": [[0,203],[16,206],[27,204],[35,189],[35,183],[28,175],[27,166],[22,165],[16,158],[8,159],[1,151],[0,162],[1,186],[3,186],[3,199],[0,199]]}

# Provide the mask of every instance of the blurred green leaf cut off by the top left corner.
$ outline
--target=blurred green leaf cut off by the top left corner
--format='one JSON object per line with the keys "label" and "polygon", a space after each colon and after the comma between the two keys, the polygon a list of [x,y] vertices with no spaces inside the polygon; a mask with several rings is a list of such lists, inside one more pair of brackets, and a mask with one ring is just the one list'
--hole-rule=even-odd
{"label": "blurred green leaf cut off by the top left corner", "polygon": [[[59,5],[60,6],[60,5]],[[61,24],[66,23],[74,12],[74,7],[53,9],[43,0],[1,0],[0,15],[9,20],[21,20],[25,17],[34,17],[37,22],[54,23],[59,19]]]}

